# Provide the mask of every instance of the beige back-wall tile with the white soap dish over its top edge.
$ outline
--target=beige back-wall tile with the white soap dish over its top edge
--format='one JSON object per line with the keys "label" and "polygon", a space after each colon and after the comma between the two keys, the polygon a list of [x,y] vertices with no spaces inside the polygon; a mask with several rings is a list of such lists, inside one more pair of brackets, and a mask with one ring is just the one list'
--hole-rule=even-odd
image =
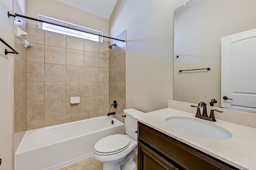
{"label": "beige back-wall tile with the white soap dish over its top edge", "polygon": [[71,104],[70,98],[66,98],[66,114],[84,113],[84,101],[82,97],[79,104]]}

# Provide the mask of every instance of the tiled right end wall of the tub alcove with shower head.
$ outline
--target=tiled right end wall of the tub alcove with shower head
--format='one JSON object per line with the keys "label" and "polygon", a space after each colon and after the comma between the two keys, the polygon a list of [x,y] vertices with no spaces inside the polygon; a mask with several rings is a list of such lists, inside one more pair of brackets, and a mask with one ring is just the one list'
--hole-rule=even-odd
{"label": "tiled right end wall of the tub alcove with shower head", "polygon": [[[126,30],[115,38],[126,40]],[[109,108],[109,111],[116,111],[116,119],[124,123],[123,110],[126,109],[126,43],[110,39],[112,49],[109,50],[109,106],[114,100],[117,101],[117,108]]]}

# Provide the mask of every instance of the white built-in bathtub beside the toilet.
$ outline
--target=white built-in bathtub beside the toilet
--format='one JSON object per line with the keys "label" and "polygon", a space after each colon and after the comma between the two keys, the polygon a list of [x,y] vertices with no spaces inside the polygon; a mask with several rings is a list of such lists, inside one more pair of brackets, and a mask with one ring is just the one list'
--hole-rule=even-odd
{"label": "white built-in bathtub beside the toilet", "polygon": [[124,134],[124,123],[112,116],[26,131],[15,153],[15,169],[63,168],[92,156],[98,140],[117,133]]}

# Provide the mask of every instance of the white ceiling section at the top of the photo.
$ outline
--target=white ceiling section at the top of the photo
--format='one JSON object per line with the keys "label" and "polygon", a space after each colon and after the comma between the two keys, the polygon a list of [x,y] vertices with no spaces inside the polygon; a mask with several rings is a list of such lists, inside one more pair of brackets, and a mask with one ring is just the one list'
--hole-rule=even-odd
{"label": "white ceiling section at the top of the photo", "polygon": [[109,20],[117,0],[57,0]]}

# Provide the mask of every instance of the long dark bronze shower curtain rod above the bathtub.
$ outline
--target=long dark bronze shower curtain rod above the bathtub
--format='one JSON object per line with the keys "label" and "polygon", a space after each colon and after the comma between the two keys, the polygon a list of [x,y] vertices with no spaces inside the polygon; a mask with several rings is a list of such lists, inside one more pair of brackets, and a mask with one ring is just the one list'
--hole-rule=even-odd
{"label": "long dark bronze shower curtain rod above the bathtub", "polygon": [[[59,25],[57,23],[52,23],[52,22],[48,22],[48,21],[44,21],[44,20],[38,20],[36,18],[31,18],[31,17],[28,17],[28,16],[23,16],[23,15],[20,15],[20,14],[17,14],[17,13],[14,13],[14,14],[11,14],[10,12],[8,12],[8,17],[14,17],[14,20],[15,20],[15,17],[18,16],[18,17],[21,17],[21,18],[26,18],[26,19],[29,19],[29,20],[34,20],[34,21],[38,21],[38,22],[44,22],[44,23],[49,23],[51,25],[56,25],[56,26],[59,26],[59,27],[64,27],[64,28],[68,28],[68,29],[73,29],[73,30],[76,30],[76,31],[81,31],[81,32],[84,32],[84,33],[89,33],[89,34],[93,34],[93,35],[98,35],[96,33],[90,33],[90,32],[87,32],[87,31],[82,31],[80,29],[76,29],[76,28],[72,28],[72,27],[66,27],[64,25]],[[108,36],[105,36],[105,35],[98,35],[100,37],[105,37],[105,38],[109,38],[109,39],[115,39],[115,40],[118,40],[118,41],[123,41],[125,42],[125,40],[122,40],[122,39],[117,39],[117,38],[113,38],[113,37],[108,37]]]}

